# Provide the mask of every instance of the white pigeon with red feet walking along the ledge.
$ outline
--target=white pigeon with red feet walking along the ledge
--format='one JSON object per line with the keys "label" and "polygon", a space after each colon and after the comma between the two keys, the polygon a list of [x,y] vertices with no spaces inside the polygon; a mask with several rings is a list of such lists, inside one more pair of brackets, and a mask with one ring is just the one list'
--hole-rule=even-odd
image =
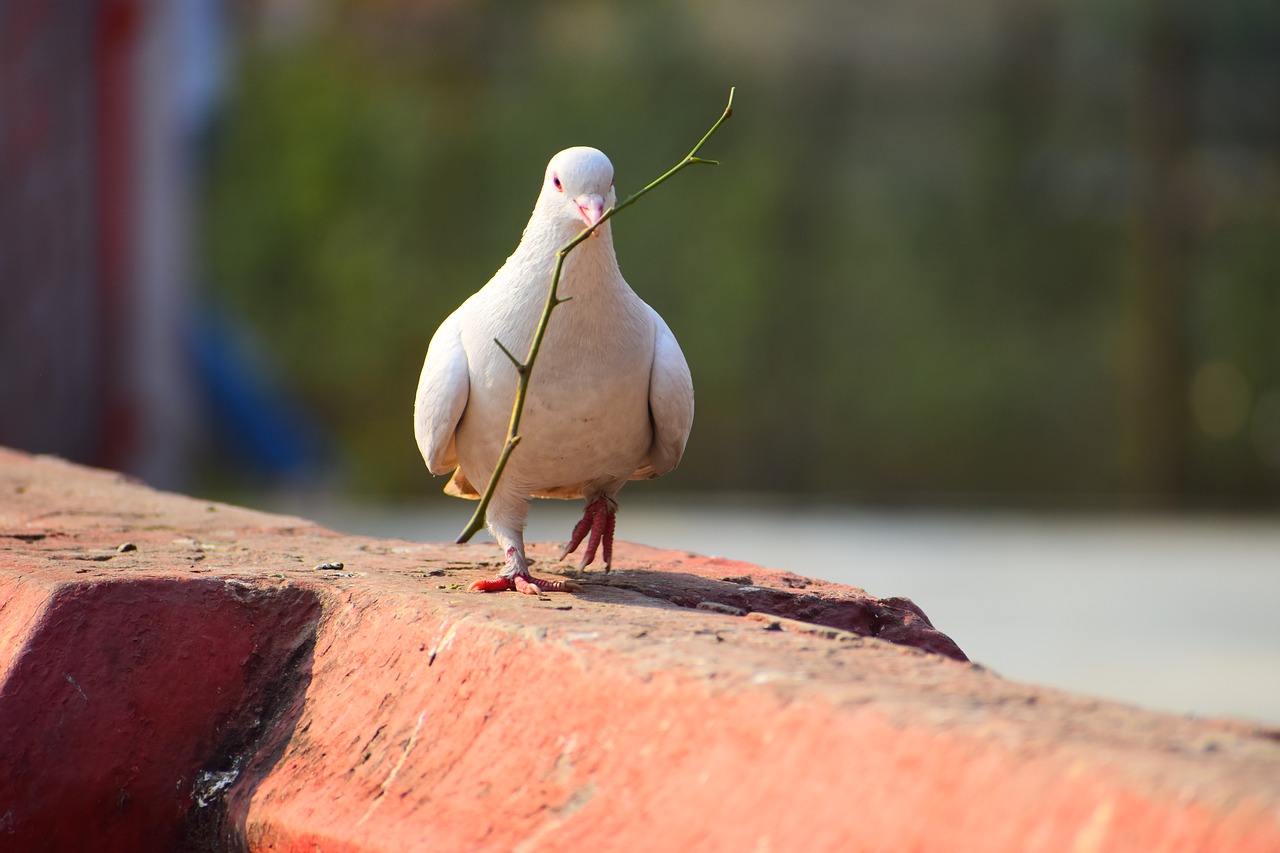
{"label": "white pigeon with red feet walking along the ledge", "polygon": [[[451,314],[426,351],[413,432],[444,488],[479,497],[507,438],[518,374],[498,341],[524,357],[532,342],[557,251],[613,206],[613,164],[590,147],[561,151],[520,246],[489,283]],[[658,313],[627,286],[613,254],[612,220],[568,254],[556,309],[530,377],[515,448],[485,521],[506,553],[493,580],[471,589],[572,592],[577,584],[529,574],[530,497],[586,501],[563,560],[590,534],[585,569],[603,546],[608,570],[618,493],[627,480],[676,467],[694,421],[694,383],[680,345]]]}

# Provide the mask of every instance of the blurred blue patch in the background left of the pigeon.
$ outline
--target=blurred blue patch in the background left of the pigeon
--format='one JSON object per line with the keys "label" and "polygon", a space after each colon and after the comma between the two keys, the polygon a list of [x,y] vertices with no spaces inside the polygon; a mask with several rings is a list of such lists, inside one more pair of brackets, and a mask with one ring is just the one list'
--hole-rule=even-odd
{"label": "blurred blue patch in the background left of the pigeon", "polygon": [[311,479],[325,467],[326,432],[243,324],[206,305],[192,321],[191,346],[205,425],[219,448],[270,479]]}

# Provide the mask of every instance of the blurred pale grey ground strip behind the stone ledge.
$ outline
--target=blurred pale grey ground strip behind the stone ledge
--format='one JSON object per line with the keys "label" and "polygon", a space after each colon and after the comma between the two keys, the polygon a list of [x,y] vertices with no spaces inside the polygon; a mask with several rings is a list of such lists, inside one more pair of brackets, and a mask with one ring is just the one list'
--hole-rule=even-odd
{"label": "blurred pale grey ground strip behind the stone ledge", "polygon": [[[974,661],[1007,679],[1280,725],[1274,519],[621,497],[620,539],[905,596]],[[273,508],[346,533],[439,542],[457,537],[474,506],[294,498]],[[579,514],[577,502],[535,502],[529,540],[563,542]]]}

